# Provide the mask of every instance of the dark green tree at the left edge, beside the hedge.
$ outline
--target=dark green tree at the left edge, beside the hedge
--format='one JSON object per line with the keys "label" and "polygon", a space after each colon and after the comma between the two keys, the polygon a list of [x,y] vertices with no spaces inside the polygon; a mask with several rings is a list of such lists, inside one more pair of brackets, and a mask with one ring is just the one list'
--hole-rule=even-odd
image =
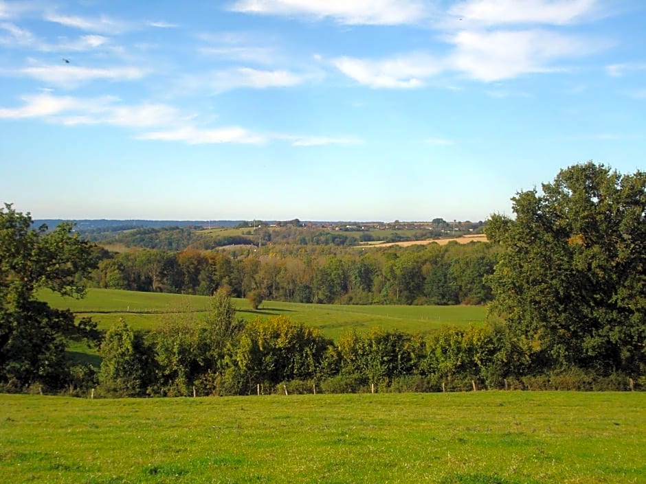
{"label": "dark green tree at the left edge, beside the hedge", "polygon": [[71,224],[53,231],[32,228],[30,214],[5,204],[0,208],[0,382],[14,387],[67,383],[70,338],[96,341],[96,326],[75,321],[69,310],[50,308],[36,292],[48,288],[82,297],[82,275],[95,265],[92,247]]}

